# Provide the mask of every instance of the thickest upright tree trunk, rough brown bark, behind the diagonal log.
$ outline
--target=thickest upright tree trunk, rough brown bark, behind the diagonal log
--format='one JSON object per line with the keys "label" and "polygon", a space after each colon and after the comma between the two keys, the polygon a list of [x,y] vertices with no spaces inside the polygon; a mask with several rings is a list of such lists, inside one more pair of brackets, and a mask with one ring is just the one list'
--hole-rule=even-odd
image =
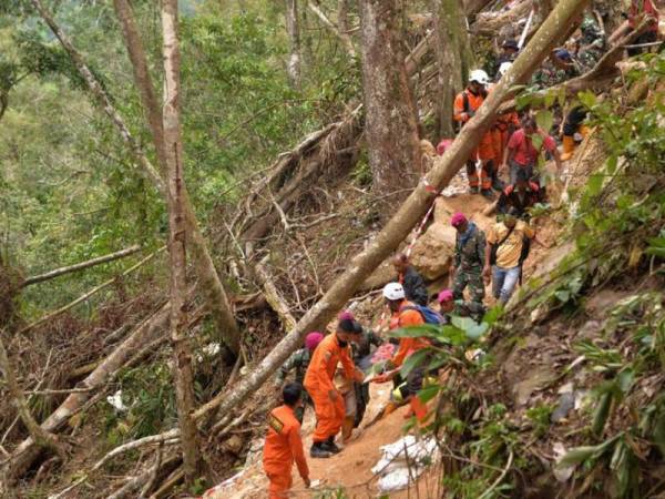
{"label": "thickest upright tree trunk, rough brown bark, behind the diagonal log", "polygon": [[[372,191],[386,196],[415,185],[420,141],[401,43],[401,0],[361,0],[365,133]],[[395,200],[387,200],[387,202]]]}

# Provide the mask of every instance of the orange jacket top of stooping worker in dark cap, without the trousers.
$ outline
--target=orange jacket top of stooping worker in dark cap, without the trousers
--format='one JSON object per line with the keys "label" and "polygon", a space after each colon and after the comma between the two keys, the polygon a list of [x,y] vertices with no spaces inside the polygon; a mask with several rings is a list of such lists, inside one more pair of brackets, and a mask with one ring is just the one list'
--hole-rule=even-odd
{"label": "orange jacket top of stooping worker in dark cap, without the trousers", "polygon": [[316,347],[305,374],[305,389],[313,398],[315,398],[315,394],[335,389],[332,378],[338,363],[341,363],[345,376],[354,379],[356,368],[351,360],[351,348],[349,345],[341,346],[337,335],[331,334]]}

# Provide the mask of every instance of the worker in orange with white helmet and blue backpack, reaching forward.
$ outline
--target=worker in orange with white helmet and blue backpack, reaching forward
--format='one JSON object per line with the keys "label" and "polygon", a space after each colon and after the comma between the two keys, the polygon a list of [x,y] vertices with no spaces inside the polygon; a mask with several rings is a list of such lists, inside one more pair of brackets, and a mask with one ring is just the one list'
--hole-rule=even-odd
{"label": "worker in orange with white helmet and blue backpack, reaching forward", "polygon": [[[418,307],[407,301],[405,289],[399,283],[388,283],[383,287],[383,298],[390,312],[392,313],[392,319],[390,322],[391,329],[409,326],[420,326],[424,324],[424,318],[419,312]],[[405,359],[407,359],[413,353],[427,348],[430,343],[427,338],[399,338],[399,347],[397,353],[391,360],[388,361],[389,366],[393,368],[383,375],[379,375],[375,378],[377,383],[385,383],[395,378],[402,366]],[[427,360],[426,363],[427,364]],[[407,375],[405,383],[400,384],[392,393],[391,405],[386,408],[385,415],[395,410],[402,401],[408,400],[411,406],[411,410],[407,416],[415,415],[418,421],[424,421],[427,418],[428,409],[427,405],[422,403],[417,394],[422,388],[422,383],[426,378],[426,366],[417,366],[411,369]]]}

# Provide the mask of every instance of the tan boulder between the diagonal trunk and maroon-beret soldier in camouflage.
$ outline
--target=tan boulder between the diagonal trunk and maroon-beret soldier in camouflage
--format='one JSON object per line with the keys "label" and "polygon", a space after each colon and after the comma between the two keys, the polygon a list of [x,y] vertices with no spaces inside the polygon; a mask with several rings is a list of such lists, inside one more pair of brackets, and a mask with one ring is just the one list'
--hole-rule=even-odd
{"label": "tan boulder between the diagonal trunk and maroon-beret soldier in camouflage", "polygon": [[434,281],[448,274],[454,253],[456,231],[450,225],[434,223],[416,242],[411,263],[422,277]]}

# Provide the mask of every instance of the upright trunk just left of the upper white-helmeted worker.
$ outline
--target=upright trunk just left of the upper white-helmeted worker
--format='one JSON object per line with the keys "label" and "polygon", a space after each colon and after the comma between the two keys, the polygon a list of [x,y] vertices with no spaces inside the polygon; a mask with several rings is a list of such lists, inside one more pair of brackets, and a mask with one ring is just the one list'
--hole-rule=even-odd
{"label": "upright trunk just left of the upper white-helmeted worker", "polygon": [[434,27],[438,138],[454,136],[452,106],[454,95],[464,86],[469,73],[469,34],[461,0],[430,0]]}

